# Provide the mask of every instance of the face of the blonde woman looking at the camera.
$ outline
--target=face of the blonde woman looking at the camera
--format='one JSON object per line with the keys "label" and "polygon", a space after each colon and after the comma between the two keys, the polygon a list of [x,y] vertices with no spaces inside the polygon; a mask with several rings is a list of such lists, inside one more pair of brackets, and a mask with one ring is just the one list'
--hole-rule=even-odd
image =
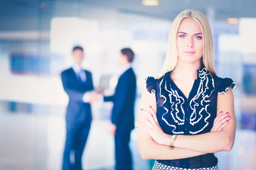
{"label": "face of the blonde woman looking at the camera", "polygon": [[178,60],[184,62],[200,62],[203,56],[202,31],[197,22],[192,19],[184,19],[177,31]]}

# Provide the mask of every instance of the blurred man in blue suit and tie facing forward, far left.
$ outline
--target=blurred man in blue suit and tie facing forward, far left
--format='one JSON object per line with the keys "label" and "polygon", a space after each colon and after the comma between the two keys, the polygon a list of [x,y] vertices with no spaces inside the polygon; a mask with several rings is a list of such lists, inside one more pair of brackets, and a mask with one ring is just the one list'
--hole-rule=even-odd
{"label": "blurred man in blue suit and tie facing forward, far left", "polygon": [[[73,67],[61,73],[64,91],[69,96],[66,113],[66,143],[62,170],[82,170],[82,154],[87,141],[92,122],[90,103],[93,102],[92,74],[81,68],[84,50],[80,46],[73,48]],[[73,151],[75,163],[70,162],[70,152]]]}

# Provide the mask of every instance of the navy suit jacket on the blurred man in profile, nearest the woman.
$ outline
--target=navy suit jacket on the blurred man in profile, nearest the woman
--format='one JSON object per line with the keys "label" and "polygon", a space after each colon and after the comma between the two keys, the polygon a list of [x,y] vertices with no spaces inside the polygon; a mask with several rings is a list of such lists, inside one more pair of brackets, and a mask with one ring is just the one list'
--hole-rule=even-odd
{"label": "navy suit jacket on the blurred man in profile, nearest the woman", "polygon": [[105,102],[113,102],[111,122],[116,125],[116,130],[134,128],[135,94],[136,76],[133,69],[129,68],[119,77],[115,94],[104,97]]}

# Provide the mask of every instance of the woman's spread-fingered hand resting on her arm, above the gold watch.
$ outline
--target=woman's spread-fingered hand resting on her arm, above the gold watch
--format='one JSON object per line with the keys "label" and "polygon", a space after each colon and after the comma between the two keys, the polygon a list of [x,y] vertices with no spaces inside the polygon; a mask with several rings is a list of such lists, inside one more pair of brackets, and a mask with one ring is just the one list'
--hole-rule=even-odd
{"label": "woman's spread-fingered hand resting on her arm, above the gold watch", "polygon": [[154,139],[154,141],[158,144],[169,145],[169,139],[171,135],[167,135],[163,132],[157,121],[157,114],[154,112],[151,106],[149,108],[149,112],[143,109],[141,110],[147,114],[148,119],[138,119],[138,122],[144,122],[145,124],[144,126],[138,126],[137,129],[147,132],[151,136],[151,138]]}

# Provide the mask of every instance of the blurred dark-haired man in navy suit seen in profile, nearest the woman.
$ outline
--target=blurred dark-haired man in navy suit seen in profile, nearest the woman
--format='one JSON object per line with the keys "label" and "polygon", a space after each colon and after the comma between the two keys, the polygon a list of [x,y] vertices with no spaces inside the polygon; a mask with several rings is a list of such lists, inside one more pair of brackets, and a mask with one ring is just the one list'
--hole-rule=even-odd
{"label": "blurred dark-haired man in navy suit seen in profile, nearest the woman", "polygon": [[105,102],[113,102],[111,133],[115,136],[116,170],[131,170],[132,155],[129,148],[131,130],[134,129],[134,102],[136,76],[131,68],[134,52],[131,48],[121,50],[119,62],[122,73],[113,96],[104,96]]}

